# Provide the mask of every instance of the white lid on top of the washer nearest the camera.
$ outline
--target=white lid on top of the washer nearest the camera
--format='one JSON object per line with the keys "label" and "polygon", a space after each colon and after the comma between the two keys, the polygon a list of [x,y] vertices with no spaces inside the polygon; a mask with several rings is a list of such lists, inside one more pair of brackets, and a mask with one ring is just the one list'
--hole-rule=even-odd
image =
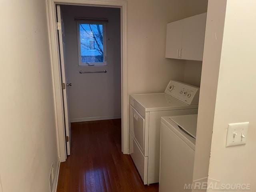
{"label": "white lid on top of the washer nearest the camera", "polygon": [[170,117],[182,130],[196,139],[197,114]]}

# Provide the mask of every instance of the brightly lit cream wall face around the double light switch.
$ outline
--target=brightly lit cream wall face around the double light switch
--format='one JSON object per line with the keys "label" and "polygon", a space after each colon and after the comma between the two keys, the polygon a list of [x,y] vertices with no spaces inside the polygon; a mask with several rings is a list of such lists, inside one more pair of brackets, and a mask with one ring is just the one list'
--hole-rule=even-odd
{"label": "brightly lit cream wall face around the double light switch", "polygon": [[[227,0],[209,177],[256,191],[256,1]],[[246,145],[225,147],[228,123],[250,122]]]}

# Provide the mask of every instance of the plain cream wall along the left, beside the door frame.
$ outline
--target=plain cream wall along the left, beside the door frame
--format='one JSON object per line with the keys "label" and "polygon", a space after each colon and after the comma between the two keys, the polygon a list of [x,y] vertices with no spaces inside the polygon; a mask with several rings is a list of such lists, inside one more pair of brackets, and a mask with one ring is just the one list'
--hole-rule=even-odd
{"label": "plain cream wall along the left, beside the door frame", "polygon": [[45,1],[4,1],[0,22],[2,190],[48,192],[58,154]]}

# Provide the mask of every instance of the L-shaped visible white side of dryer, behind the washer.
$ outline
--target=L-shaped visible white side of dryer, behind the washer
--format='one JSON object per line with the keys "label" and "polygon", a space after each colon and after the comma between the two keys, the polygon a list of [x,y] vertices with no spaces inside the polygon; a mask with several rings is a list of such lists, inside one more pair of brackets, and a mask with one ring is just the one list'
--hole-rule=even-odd
{"label": "L-shaped visible white side of dryer, behind the washer", "polygon": [[148,184],[159,182],[161,117],[197,114],[197,112],[198,112],[198,109],[149,112]]}

